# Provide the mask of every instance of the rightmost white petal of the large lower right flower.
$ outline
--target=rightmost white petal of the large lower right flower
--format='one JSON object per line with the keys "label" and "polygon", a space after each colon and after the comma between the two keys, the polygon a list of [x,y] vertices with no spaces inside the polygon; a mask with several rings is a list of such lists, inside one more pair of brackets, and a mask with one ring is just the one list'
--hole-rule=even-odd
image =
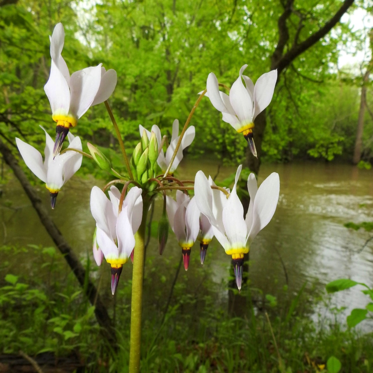
{"label": "rightmost white petal of the large lower right flower", "polygon": [[280,179],[276,172],[271,173],[259,186],[254,199],[253,225],[251,226],[248,243],[249,245],[272,219],[276,211],[280,193]]}

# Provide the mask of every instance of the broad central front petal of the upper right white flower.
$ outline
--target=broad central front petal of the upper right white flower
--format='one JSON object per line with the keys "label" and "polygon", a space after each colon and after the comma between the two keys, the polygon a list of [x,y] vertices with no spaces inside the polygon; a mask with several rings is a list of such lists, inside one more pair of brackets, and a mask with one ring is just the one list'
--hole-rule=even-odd
{"label": "broad central front petal of the upper right white flower", "polygon": [[242,83],[241,75],[232,84],[231,91],[229,92],[229,101],[231,101],[233,110],[240,122],[250,123],[252,121],[253,104],[249,93]]}

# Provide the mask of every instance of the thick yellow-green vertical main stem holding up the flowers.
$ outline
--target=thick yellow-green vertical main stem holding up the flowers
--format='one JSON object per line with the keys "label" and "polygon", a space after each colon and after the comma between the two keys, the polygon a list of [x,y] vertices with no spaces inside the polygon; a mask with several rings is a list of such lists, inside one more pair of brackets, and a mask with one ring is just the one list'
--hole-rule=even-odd
{"label": "thick yellow-green vertical main stem holding up the flowers", "polygon": [[144,253],[146,217],[149,201],[143,196],[142,221],[135,234],[134,269],[132,273],[131,336],[129,348],[129,373],[140,372],[142,280],[144,278]]}

